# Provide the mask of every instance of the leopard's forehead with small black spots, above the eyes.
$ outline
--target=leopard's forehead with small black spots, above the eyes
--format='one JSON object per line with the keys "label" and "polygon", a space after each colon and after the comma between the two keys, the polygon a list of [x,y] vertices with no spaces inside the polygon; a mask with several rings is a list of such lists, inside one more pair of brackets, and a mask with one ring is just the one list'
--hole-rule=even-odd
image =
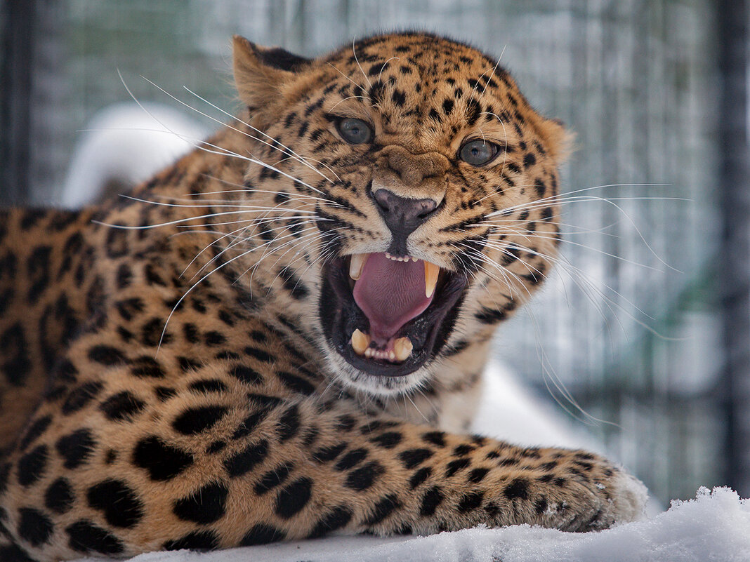
{"label": "leopard's forehead with small black spots, above the eyes", "polygon": [[377,112],[383,133],[394,140],[410,136],[423,148],[472,130],[484,134],[487,127],[510,141],[532,112],[499,59],[431,34],[370,37],[342,46],[319,64],[331,101],[324,109],[362,103]]}

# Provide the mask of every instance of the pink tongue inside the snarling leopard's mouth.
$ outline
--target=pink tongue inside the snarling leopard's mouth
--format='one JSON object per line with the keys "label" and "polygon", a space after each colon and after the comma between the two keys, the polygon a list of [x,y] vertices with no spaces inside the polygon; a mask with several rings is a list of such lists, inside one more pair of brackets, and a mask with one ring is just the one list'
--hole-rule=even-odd
{"label": "pink tongue inside the snarling leopard's mouth", "polygon": [[425,297],[422,260],[396,262],[384,253],[370,254],[354,284],[354,300],[370,320],[370,336],[379,346],[422,314],[432,298]]}

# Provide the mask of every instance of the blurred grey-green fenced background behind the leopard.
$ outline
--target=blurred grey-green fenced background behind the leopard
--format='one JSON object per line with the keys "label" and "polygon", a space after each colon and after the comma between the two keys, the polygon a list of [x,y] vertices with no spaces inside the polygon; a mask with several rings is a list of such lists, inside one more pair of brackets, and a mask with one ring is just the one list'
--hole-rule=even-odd
{"label": "blurred grey-green fenced background behind the leopard", "polygon": [[497,356],[661,501],[724,484],[748,497],[747,27],[728,0],[3,0],[0,204],[77,205],[75,184],[140,179],[80,172],[87,151],[116,168],[138,150],[85,132],[123,126],[118,71],[175,128],[214,129],[141,75],[232,112],[234,33],[317,55],[417,28],[502,52],[577,150],[561,263]]}

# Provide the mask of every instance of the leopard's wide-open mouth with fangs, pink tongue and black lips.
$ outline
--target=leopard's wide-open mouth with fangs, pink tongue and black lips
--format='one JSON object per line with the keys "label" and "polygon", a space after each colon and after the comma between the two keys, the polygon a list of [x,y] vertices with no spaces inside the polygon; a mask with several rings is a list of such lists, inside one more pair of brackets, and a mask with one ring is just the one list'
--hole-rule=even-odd
{"label": "leopard's wide-open mouth with fangs, pink tongue and black lips", "polygon": [[323,330],[357,369],[408,375],[445,345],[467,282],[464,274],[411,256],[333,259],[323,269]]}

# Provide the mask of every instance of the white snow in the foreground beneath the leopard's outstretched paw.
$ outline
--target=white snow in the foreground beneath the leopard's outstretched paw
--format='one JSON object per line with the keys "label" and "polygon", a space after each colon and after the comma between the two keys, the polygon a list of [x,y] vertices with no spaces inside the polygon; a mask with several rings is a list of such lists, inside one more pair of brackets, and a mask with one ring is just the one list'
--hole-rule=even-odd
{"label": "white snow in the foreground beneath the leopard's outstretched paw", "polygon": [[[101,561],[101,559],[99,559]],[[332,537],[220,552],[151,552],[132,562],[748,562],[750,500],[700,488],[694,500],[598,533],[519,525],[431,537]],[[95,562],[89,559],[89,562]]]}

